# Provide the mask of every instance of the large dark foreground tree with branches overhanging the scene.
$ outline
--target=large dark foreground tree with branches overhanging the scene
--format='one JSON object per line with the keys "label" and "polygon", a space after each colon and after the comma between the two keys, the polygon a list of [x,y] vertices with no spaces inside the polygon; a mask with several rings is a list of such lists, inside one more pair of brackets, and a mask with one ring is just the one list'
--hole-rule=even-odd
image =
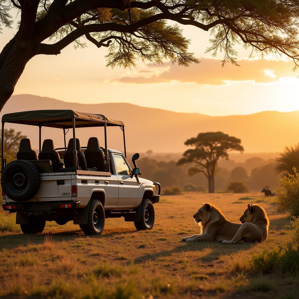
{"label": "large dark foreground tree with branches overhanging the scene", "polygon": [[71,43],[84,47],[82,38],[107,47],[111,67],[136,59],[198,63],[190,41],[167,20],[211,30],[207,51],[224,51],[222,65],[237,65],[234,44],[241,42],[262,55],[284,54],[298,67],[298,0],[0,0],[0,25],[12,27],[13,9],[21,17],[0,53],[0,110],[32,57],[60,54]]}

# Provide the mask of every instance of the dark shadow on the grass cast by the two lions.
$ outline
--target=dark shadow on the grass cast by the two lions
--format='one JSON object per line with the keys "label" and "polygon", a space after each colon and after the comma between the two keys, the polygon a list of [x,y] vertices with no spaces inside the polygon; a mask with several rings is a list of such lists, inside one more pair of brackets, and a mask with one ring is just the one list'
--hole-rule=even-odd
{"label": "dark shadow on the grass cast by the two lions", "polygon": [[[238,251],[246,250],[256,246],[256,243],[243,243],[243,244],[233,244],[224,245],[221,242],[181,242],[179,246],[173,248],[172,250],[164,250],[160,252],[155,252],[152,254],[145,254],[144,256],[135,259],[135,263],[142,263],[145,260],[157,260],[160,257],[167,257],[173,253],[183,253],[190,251],[203,251],[206,252],[201,256],[201,259],[205,261],[218,260],[220,255],[230,255]],[[208,249],[208,250],[207,250]]]}

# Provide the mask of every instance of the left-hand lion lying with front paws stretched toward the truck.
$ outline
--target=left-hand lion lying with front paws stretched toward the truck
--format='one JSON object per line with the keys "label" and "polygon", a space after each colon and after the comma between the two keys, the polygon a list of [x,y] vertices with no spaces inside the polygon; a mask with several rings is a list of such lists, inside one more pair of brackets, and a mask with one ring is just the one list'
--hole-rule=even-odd
{"label": "left-hand lion lying with front paws stretched toward the truck", "polygon": [[181,238],[182,241],[223,241],[232,239],[241,223],[228,221],[222,212],[208,202],[193,215],[196,223],[201,226],[201,234]]}

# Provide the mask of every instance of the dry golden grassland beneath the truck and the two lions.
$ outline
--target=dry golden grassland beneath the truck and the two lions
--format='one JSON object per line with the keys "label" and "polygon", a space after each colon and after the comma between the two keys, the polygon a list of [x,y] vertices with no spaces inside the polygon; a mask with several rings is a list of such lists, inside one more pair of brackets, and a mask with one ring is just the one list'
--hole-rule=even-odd
{"label": "dry golden grassland beneath the truck and the two lions", "polygon": [[[248,202],[262,205],[270,219],[268,239],[181,242],[199,233],[192,215],[202,202],[235,222]],[[97,237],[85,237],[71,222],[47,222],[43,234],[24,235],[1,211],[2,227],[5,220],[11,231],[0,232],[0,298],[298,298],[298,271],[261,273],[251,261],[252,254],[287,248],[291,241],[284,227],[289,220],[277,213],[274,198],[186,192],[162,196],[155,211],[152,231],[137,232],[123,218],[106,219]]]}

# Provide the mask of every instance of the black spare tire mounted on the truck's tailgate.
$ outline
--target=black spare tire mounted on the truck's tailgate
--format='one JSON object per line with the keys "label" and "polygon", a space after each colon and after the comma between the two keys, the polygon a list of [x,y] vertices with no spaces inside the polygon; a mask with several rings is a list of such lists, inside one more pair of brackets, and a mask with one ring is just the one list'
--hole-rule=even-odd
{"label": "black spare tire mounted on the truck's tailgate", "polygon": [[12,161],[2,170],[1,186],[10,199],[25,202],[39,190],[39,171],[30,161]]}

